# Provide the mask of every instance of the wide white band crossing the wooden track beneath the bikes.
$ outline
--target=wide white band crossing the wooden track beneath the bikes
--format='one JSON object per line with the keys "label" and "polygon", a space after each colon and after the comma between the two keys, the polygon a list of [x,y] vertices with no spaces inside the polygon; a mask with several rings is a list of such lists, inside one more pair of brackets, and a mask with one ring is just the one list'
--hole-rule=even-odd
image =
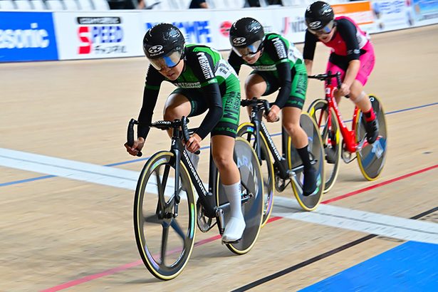
{"label": "wide white band crossing the wooden track beneath the bikes", "polygon": [[[134,190],[139,172],[0,148],[0,165],[83,182]],[[173,179],[170,179],[173,184]],[[171,187],[169,189],[172,189]],[[296,199],[274,197],[273,216],[395,239],[438,244],[438,224],[321,204],[303,212]]]}

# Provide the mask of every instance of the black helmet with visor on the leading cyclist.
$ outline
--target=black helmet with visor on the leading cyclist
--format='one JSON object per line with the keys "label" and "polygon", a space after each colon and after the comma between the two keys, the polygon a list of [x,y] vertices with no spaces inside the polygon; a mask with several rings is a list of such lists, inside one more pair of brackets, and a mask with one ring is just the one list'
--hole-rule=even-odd
{"label": "black helmet with visor on the leading cyclist", "polygon": [[143,51],[157,70],[177,66],[184,52],[184,36],[172,24],[157,24],[143,38]]}

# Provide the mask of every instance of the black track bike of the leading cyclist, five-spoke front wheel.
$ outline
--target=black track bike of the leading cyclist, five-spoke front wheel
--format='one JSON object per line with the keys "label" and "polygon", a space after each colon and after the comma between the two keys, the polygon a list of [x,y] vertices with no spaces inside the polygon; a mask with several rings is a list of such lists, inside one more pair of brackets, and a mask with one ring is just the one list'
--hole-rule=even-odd
{"label": "black track bike of the leading cyclist, five-spoke front wheel", "polygon": [[[153,122],[150,127],[172,129],[170,151],[159,151],[140,173],[134,199],[137,248],[146,268],[162,280],[182,272],[194,248],[195,226],[207,232],[217,224],[219,234],[229,219],[229,202],[210,150],[208,190],[183,145],[189,140],[188,119]],[[134,125],[128,124],[127,143],[134,142]],[[139,153],[140,155],[140,153]],[[236,138],[234,160],[241,175],[241,204],[246,229],[241,239],[227,242],[234,254],[246,254],[255,244],[263,212],[263,181],[256,154],[246,140]],[[198,194],[195,201],[194,189]]]}

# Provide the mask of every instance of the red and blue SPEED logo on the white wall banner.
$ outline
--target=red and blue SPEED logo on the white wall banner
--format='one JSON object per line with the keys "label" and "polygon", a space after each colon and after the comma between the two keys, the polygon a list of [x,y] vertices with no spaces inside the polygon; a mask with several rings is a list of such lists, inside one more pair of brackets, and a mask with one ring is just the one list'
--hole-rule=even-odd
{"label": "red and blue SPEED logo on the white wall banner", "polygon": [[120,17],[78,17],[80,55],[127,53]]}

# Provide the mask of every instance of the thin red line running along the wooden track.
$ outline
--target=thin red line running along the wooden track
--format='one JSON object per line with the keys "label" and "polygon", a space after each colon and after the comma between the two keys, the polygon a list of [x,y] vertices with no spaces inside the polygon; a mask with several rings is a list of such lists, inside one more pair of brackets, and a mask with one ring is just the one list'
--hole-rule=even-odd
{"label": "thin red line running along the wooden track", "polygon": [[[410,172],[410,173],[404,174],[404,175],[402,175],[400,177],[395,177],[393,179],[388,179],[385,182],[380,182],[378,184],[373,184],[370,187],[364,187],[363,189],[358,189],[357,191],[349,192],[348,194],[343,194],[343,195],[340,195],[338,197],[334,197],[333,199],[325,200],[325,201],[321,202],[321,204],[330,204],[331,202],[339,201],[340,199],[345,199],[347,197],[354,196],[355,194],[360,194],[360,193],[363,193],[363,192],[367,192],[370,189],[376,189],[377,187],[383,187],[386,184],[392,184],[392,182],[397,182],[399,180],[406,179],[407,177],[412,177],[412,176],[420,174],[422,172],[427,172],[429,170],[434,170],[437,167],[438,167],[438,165],[432,165],[431,167],[426,167],[426,168],[423,168],[422,170],[417,170],[416,172]],[[271,223],[272,221],[277,221],[277,220],[282,219],[282,218],[283,217],[271,217],[271,219],[268,220],[268,223]],[[208,244],[209,242],[215,241],[215,240],[220,239],[220,238],[221,238],[220,235],[212,236],[212,237],[209,237],[208,239],[203,239],[201,241],[195,242],[194,246],[200,246],[200,245],[203,245],[203,244]],[[69,288],[69,287],[72,287],[72,286],[76,286],[76,285],[79,285],[81,283],[85,283],[85,282],[88,282],[88,281],[95,280],[97,278],[102,278],[103,276],[109,276],[109,275],[112,275],[113,273],[118,273],[120,271],[124,271],[124,270],[127,270],[128,268],[132,268],[133,266],[139,266],[141,264],[143,264],[142,261],[133,261],[130,264],[124,264],[122,266],[118,266],[118,267],[115,267],[115,268],[110,268],[109,270],[106,270],[106,271],[103,271],[103,272],[100,272],[100,273],[95,273],[93,275],[85,276],[83,278],[78,278],[76,280],[68,281],[68,282],[63,283],[61,285],[54,286],[52,288],[48,288],[48,289],[42,290],[41,292],[60,291],[62,289],[66,289],[66,288]]]}

